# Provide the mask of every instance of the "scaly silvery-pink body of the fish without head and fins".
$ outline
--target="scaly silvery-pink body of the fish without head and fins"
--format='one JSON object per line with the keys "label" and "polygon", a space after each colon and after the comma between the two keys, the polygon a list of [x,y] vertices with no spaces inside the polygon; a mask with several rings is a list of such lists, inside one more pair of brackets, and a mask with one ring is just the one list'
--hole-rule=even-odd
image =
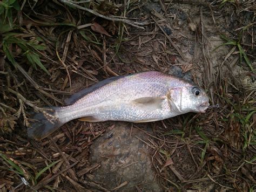
{"label": "scaly silvery-pink body of the fish without head and fins", "polygon": [[[137,74],[118,79],[113,83],[100,87],[98,90],[85,95],[75,104],[60,107],[58,118],[63,123],[86,116],[93,117],[93,121],[156,121],[177,114],[173,114],[167,100],[159,108],[147,105],[134,105],[133,101],[140,98],[160,98],[169,90],[165,76],[158,73]],[[88,118],[87,118],[88,119]]]}

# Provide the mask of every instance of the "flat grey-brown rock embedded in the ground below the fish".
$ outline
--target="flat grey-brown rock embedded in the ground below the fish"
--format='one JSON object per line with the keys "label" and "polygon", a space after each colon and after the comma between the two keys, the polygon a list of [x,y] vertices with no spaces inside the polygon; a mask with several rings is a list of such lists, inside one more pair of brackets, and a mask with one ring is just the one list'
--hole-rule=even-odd
{"label": "flat grey-brown rock embedded in the ground below the fish", "polygon": [[130,133],[131,124],[117,122],[114,128],[93,143],[90,162],[100,162],[100,167],[92,172],[93,182],[101,183],[107,189],[127,182],[118,191],[137,191],[136,186],[143,191],[162,191],[153,180],[149,149],[139,140],[147,141],[149,136],[137,128],[132,129],[131,136]]}

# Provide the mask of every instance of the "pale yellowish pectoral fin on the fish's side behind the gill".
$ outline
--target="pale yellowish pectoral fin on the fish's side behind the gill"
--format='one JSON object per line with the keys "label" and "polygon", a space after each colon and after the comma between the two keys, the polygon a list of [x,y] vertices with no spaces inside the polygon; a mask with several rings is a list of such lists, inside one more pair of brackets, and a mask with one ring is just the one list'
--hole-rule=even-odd
{"label": "pale yellowish pectoral fin on the fish's side behind the gill", "polygon": [[153,98],[153,97],[144,97],[132,100],[132,104],[137,107],[143,107],[145,109],[160,109],[163,104],[164,98]]}

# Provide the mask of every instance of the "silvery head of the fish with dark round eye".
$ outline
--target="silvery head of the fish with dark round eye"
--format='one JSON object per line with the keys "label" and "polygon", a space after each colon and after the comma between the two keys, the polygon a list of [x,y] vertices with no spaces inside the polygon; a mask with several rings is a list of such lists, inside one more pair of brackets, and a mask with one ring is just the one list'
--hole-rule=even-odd
{"label": "silvery head of the fish with dark round eye", "polygon": [[209,105],[208,95],[198,86],[187,84],[170,91],[173,108],[180,114],[188,112],[205,113]]}

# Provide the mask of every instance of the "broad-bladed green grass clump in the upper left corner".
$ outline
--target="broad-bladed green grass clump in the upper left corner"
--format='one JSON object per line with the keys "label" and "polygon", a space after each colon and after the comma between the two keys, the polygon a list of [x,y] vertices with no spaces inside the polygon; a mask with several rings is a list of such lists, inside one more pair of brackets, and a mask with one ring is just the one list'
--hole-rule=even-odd
{"label": "broad-bladed green grass clump in the upper left corner", "polygon": [[16,66],[16,56],[12,52],[12,47],[18,46],[22,51],[21,56],[25,57],[28,63],[34,68],[37,69],[38,66],[47,74],[50,74],[40,60],[40,51],[46,49],[43,40],[39,37],[32,40],[22,38],[23,35],[27,35],[23,33],[25,29],[22,29],[13,22],[14,12],[17,13],[17,11],[21,11],[18,1],[4,0],[0,2],[0,33],[3,36],[3,52],[8,60]]}

